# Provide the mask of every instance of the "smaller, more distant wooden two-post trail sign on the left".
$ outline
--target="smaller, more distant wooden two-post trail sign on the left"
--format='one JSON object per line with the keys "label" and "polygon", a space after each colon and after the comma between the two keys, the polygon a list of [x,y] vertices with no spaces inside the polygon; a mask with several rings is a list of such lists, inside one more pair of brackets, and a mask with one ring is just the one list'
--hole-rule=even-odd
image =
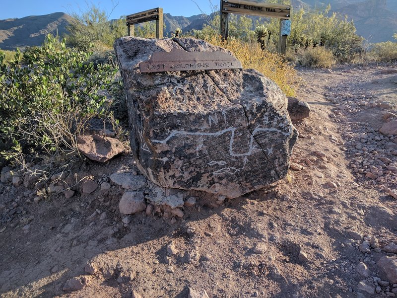
{"label": "smaller, more distant wooden two-post trail sign on the left", "polygon": [[157,7],[127,15],[128,35],[134,36],[134,25],[156,21],[156,38],[163,38],[163,8]]}

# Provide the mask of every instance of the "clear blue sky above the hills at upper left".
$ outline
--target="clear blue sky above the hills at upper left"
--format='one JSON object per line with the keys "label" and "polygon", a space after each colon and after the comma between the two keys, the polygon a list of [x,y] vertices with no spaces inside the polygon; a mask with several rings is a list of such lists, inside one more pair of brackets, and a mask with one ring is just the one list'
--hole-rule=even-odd
{"label": "clear blue sky above the hills at upper left", "polygon": [[[117,3],[117,0],[114,1]],[[163,7],[164,13],[172,15],[191,16],[201,13],[197,5],[191,0],[119,0],[110,18],[119,18],[121,15],[132,14],[155,7]],[[211,13],[209,0],[195,0],[201,10]],[[41,15],[53,12],[70,12],[85,10],[87,3],[93,3],[108,13],[112,10],[112,0],[1,0],[0,19],[24,17],[28,15]],[[212,0],[219,6],[219,0]]]}

